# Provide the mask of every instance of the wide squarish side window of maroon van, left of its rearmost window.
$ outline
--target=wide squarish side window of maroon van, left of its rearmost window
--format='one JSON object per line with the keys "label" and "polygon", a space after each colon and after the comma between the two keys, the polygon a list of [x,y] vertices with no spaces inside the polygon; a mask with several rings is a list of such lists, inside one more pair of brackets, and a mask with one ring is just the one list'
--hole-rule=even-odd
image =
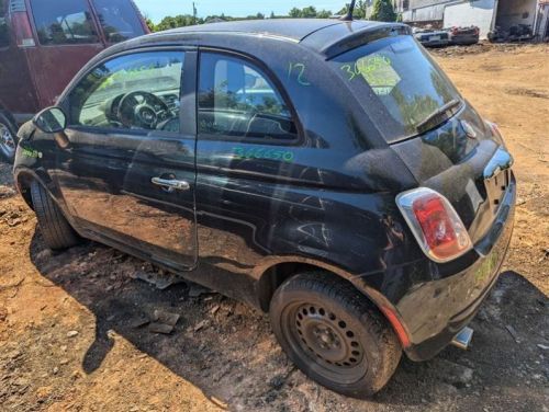
{"label": "wide squarish side window of maroon van, left of its rearmost window", "polygon": [[31,7],[40,44],[99,42],[86,0],[31,0]]}

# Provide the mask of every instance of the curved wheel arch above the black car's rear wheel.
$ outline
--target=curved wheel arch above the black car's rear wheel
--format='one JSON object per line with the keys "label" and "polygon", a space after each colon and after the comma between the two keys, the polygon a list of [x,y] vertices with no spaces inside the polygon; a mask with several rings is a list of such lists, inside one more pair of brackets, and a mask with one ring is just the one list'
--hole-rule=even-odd
{"label": "curved wheel arch above the black car's rear wheel", "polygon": [[411,345],[410,333],[396,308],[378,290],[369,286],[362,277],[352,275],[340,267],[309,258],[288,256],[270,258],[256,267],[256,294],[261,310],[268,312],[270,301],[277,288],[287,279],[301,272],[323,271],[334,279],[350,284],[366,299],[373,304],[393,328],[403,348]]}

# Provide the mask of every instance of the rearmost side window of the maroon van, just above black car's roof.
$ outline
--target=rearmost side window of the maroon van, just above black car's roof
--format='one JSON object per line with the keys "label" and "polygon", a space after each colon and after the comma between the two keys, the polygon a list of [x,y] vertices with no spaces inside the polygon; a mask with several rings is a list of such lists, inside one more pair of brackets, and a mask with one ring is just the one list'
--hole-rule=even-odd
{"label": "rearmost side window of the maroon van, just above black car's roof", "polygon": [[117,43],[145,34],[130,0],[93,0],[93,5],[107,42]]}

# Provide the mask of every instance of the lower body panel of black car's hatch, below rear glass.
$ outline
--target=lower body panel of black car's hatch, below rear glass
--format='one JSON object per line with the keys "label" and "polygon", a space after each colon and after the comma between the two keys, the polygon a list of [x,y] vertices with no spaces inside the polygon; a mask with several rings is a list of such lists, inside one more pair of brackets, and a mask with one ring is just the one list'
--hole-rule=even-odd
{"label": "lower body panel of black car's hatch, below rear glass", "polygon": [[492,227],[512,182],[513,159],[496,140],[464,104],[440,127],[392,145],[419,186],[448,198],[473,243]]}

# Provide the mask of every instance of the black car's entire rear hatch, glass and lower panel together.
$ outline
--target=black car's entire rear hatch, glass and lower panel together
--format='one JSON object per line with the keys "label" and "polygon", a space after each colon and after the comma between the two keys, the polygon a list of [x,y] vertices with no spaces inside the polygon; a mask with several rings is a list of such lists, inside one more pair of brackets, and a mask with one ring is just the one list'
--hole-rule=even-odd
{"label": "black car's entire rear hatch, glass and lower panel together", "polygon": [[330,64],[417,185],[446,196],[479,242],[512,180],[512,158],[494,126],[411,35],[378,36]]}

